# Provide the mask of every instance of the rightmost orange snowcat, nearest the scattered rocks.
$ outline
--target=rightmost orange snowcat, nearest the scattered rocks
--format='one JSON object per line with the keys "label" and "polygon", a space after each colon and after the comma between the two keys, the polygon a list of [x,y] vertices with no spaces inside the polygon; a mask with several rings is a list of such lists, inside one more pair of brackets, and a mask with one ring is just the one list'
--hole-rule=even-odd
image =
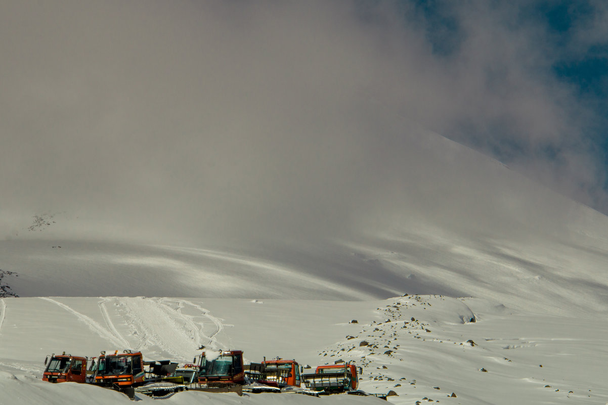
{"label": "rightmost orange snowcat, nearest the scattered rocks", "polygon": [[309,389],[322,393],[358,393],[359,376],[357,372],[360,375],[363,370],[350,363],[319,365],[314,373],[303,374],[302,380]]}

